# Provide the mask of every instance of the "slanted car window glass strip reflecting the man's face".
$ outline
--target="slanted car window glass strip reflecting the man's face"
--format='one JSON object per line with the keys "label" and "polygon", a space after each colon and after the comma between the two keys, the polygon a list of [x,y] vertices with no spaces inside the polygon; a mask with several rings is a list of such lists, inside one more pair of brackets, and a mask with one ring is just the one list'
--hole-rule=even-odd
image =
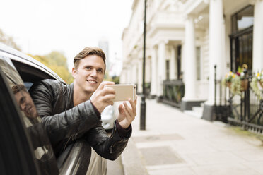
{"label": "slanted car window glass strip reflecting the man's face", "polygon": [[21,110],[25,131],[29,135],[40,171],[42,171],[42,174],[58,174],[52,146],[49,143],[45,129],[42,127],[41,119],[37,114],[33,99],[27,90],[30,85],[23,83],[8,56],[0,55],[0,68],[4,72],[8,85],[13,92],[13,97],[16,99],[18,107]]}

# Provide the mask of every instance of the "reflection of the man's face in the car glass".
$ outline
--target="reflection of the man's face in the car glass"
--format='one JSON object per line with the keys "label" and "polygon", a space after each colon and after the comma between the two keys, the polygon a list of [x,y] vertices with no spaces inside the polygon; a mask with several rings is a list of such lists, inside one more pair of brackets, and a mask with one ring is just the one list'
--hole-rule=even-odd
{"label": "reflection of the man's face in the car glass", "polygon": [[21,90],[15,94],[16,101],[19,104],[20,109],[24,112],[25,116],[36,117],[37,109],[33,103],[28,92]]}

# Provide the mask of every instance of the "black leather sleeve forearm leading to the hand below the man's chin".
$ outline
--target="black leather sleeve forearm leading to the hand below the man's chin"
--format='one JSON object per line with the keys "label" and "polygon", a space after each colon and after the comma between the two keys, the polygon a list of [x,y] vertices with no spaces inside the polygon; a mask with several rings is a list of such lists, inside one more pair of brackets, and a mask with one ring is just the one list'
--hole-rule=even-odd
{"label": "black leather sleeve forearm leading to the hand below the man's chin", "polygon": [[49,139],[53,144],[59,140],[74,137],[86,133],[90,128],[98,125],[100,120],[95,115],[90,101],[78,104],[78,106],[54,116],[42,117]]}

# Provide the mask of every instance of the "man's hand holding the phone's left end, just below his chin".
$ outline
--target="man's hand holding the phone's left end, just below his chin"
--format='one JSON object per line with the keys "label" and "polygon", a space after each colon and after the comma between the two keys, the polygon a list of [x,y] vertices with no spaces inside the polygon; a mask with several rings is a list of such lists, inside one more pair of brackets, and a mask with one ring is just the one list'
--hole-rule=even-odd
{"label": "man's hand holding the phone's left end, just below his chin", "polygon": [[103,81],[98,89],[94,92],[90,100],[100,113],[105,107],[112,105],[112,99],[115,98],[115,90],[112,87],[104,87],[105,85],[114,85],[114,82]]}

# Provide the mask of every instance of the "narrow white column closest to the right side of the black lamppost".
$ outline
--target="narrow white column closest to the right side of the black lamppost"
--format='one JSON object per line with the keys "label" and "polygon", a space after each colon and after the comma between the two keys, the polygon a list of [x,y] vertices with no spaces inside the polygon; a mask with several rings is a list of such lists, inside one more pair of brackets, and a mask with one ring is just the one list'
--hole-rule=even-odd
{"label": "narrow white column closest to the right side of the black lamppost", "polygon": [[151,96],[155,97],[157,94],[157,60],[156,60],[156,48],[151,49]]}

